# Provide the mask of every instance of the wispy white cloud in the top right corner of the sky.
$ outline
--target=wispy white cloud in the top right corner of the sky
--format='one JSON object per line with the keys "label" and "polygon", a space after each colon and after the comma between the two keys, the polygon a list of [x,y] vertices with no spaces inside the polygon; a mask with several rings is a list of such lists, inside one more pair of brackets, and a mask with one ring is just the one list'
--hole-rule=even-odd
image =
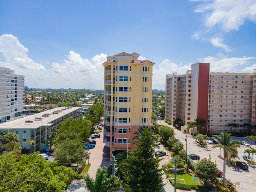
{"label": "wispy white cloud in the top right corner of the sky", "polygon": [[[195,32],[192,38],[197,40],[209,40],[213,46],[222,48],[226,52],[231,50],[223,44],[223,36],[231,30],[239,30],[245,20],[256,22],[255,0],[190,0],[197,2],[194,10],[201,13],[205,28]],[[212,36],[209,38],[207,36]]]}

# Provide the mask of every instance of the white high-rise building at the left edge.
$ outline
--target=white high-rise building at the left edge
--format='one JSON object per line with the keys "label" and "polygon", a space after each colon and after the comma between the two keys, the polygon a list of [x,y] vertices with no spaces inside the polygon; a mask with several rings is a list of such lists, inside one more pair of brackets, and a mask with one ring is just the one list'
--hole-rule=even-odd
{"label": "white high-rise building at the left edge", "polygon": [[24,100],[24,76],[0,67],[0,122],[22,116]]}

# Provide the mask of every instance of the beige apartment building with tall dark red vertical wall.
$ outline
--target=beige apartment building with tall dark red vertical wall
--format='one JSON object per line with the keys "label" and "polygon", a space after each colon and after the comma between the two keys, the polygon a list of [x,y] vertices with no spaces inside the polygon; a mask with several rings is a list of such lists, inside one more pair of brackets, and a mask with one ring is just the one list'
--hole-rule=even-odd
{"label": "beige apartment building with tall dark red vertical wall", "polygon": [[[166,120],[180,118],[185,126],[206,120],[200,133],[256,134],[256,73],[210,72],[210,63],[196,63],[186,74],[166,75]],[[230,130],[228,124],[239,124]],[[252,124],[252,129],[244,124]]]}

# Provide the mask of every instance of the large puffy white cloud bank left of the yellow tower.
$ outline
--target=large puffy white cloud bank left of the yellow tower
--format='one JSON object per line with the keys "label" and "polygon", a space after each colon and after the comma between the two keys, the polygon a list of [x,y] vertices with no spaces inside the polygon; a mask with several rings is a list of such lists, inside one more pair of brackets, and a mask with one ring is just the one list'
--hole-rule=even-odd
{"label": "large puffy white cloud bank left of the yellow tower", "polygon": [[46,68],[27,57],[28,49],[13,35],[0,36],[0,52],[6,59],[1,67],[14,70],[25,76],[25,85],[30,88],[90,88],[103,89],[106,54],[96,55],[92,60],[81,58],[70,51],[61,63],[53,62]]}

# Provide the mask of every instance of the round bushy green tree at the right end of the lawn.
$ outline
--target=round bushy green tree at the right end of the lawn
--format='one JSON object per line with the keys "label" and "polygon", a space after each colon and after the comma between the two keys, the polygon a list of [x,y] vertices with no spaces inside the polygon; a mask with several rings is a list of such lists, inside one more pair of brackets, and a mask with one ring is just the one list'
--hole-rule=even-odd
{"label": "round bushy green tree at the right end of the lawn", "polygon": [[218,181],[216,178],[218,175],[217,165],[210,159],[204,158],[200,160],[196,164],[195,173],[200,179],[202,179],[204,186],[212,186]]}

